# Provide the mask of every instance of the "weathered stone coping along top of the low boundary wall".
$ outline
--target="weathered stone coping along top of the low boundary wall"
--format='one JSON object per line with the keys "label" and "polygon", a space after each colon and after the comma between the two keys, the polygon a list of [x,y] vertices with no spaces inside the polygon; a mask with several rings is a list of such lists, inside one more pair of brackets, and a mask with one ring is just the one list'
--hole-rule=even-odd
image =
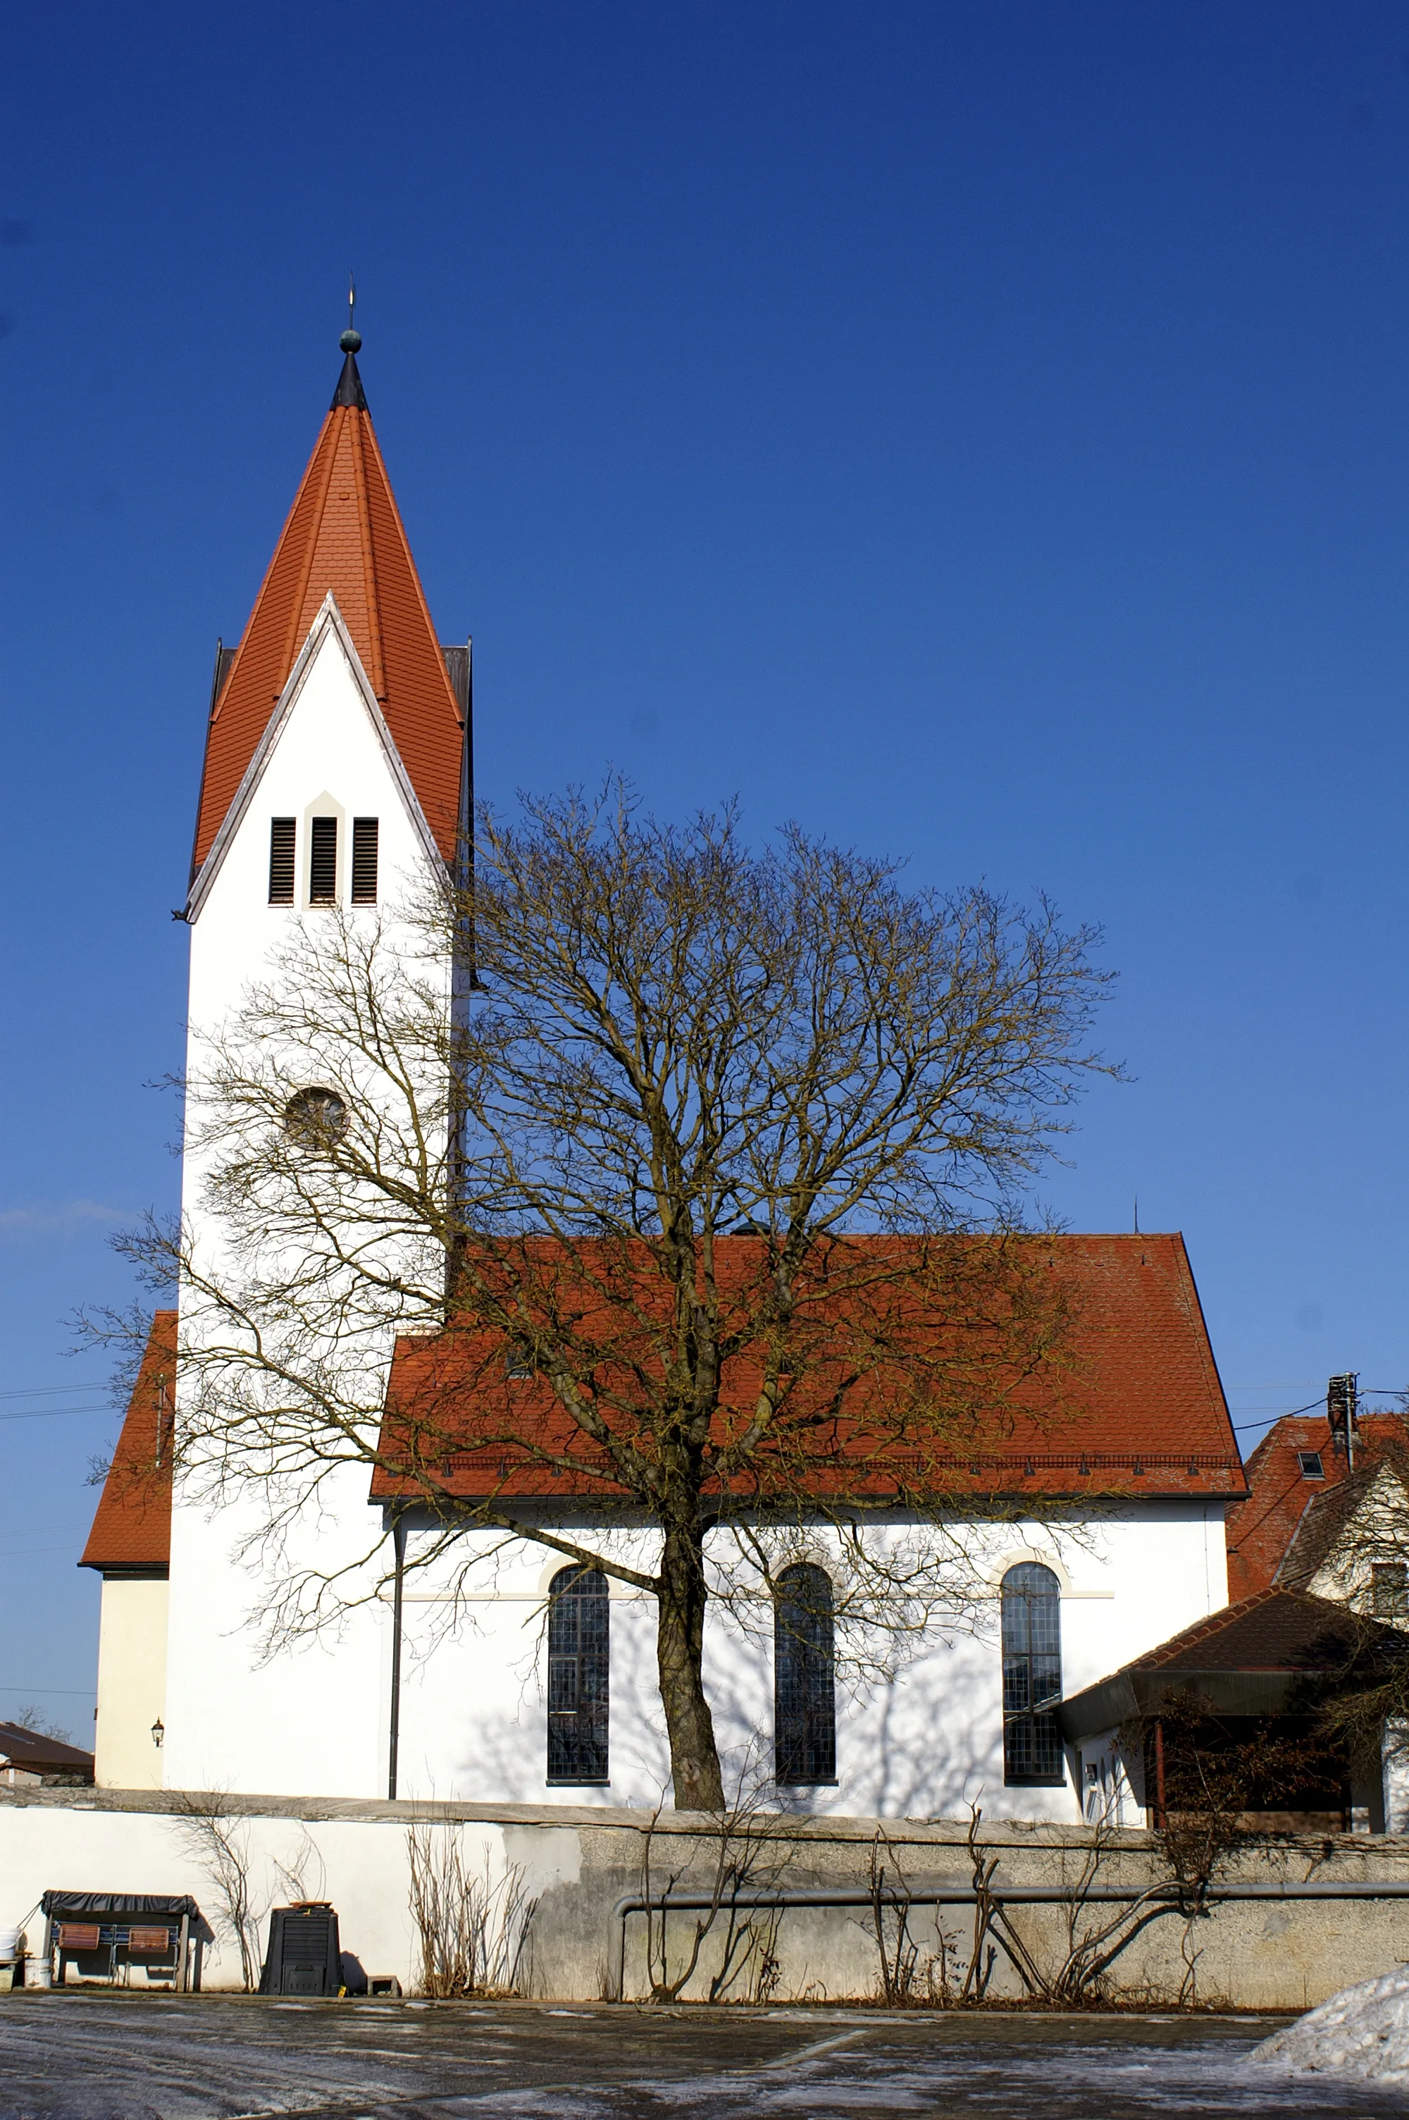
{"label": "weathered stone coping along top of the low boundary wall", "polygon": [[[699,1836],[718,1832],[718,1821],[699,1810],[625,1810],[606,1804],[460,1804],[422,1802],[403,1798],[356,1798],[356,1796],[237,1796],[210,1789],[72,1789],[21,1785],[0,1789],[0,1808],[8,1810],[106,1810],[136,1813],[148,1817],[182,1817],[186,1806],[210,1808],[212,1794],[225,1817],[246,1819],[301,1819],[307,1823],[356,1823],[356,1825],[417,1825],[417,1823],[464,1823],[464,1825],[570,1825],[578,1830],[682,1834]],[[864,1817],[814,1817],[788,1810],[767,1810],[754,1815],[754,1830],[780,1840],[807,1844],[858,1844],[875,1842],[877,1836],[890,1847],[964,1847],[968,1819],[864,1819]],[[989,1849],[1091,1849],[1104,1847],[1110,1855],[1138,1855],[1159,1849],[1155,1834],[1144,1827],[1091,1827],[1028,1823],[1021,1819],[983,1821],[983,1844]],[[1356,1859],[1390,1861],[1396,1870],[1409,1861],[1409,1834],[1307,1834],[1288,1836],[1269,1847],[1250,1847],[1246,1857],[1267,1859],[1269,1853],[1299,1857],[1312,1868],[1307,1874],[1326,1876],[1326,1863],[1337,1866]],[[1233,1861],[1231,1870],[1237,1870]]]}

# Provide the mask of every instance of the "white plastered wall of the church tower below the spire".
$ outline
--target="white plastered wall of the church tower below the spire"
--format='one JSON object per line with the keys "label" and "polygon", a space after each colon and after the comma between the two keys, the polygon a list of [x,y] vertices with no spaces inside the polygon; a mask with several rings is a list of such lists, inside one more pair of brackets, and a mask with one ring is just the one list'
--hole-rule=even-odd
{"label": "white plastered wall of the church tower below the spire", "polygon": [[[290,708],[263,761],[254,793],[239,818],[218,873],[191,929],[191,1062],[195,1083],[189,1132],[199,1126],[201,1041],[237,1018],[250,982],[267,977],[297,922],[326,920],[307,899],[307,816],[337,814],[339,903],[347,907],[352,818],[379,820],[379,878],[375,907],[347,907],[354,922],[379,922],[390,950],[409,958],[424,948],[420,933],[396,918],[396,907],[424,888],[430,873],[424,837],[407,810],[403,787],[367,708],[350,649],[326,613],[309,636],[311,653],[290,681]],[[326,803],[326,810],[324,810]],[[297,901],[269,905],[269,820],[295,816]],[[447,967],[432,967],[449,992]],[[328,1068],[309,1056],[309,1083]],[[345,1085],[345,1083],[343,1083]],[[218,1278],[225,1270],[220,1223],[208,1213],[206,1164],[189,1143],[182,1211],[195,1232],[197,1255]],[[180,1297],[182,1346],[206,1329],[191,1289]],[[392,1333],[381,1331],[362,1350],[364,1401],[379,1406]],[[178,1420],[184,1391],[178,1372]],[[316,1503],[292,1526],[282,1552],[244,1550],[256,1539],[267,1509],[258,1490],[227,1492],[212,1507],[191,1476],[178,1478],[172,1512],[172,1615],[167,1671],[167,1787],[225,1787],[248,1794],[386,1791],[388,1622],[381,1607],[354,1611],[341,1626],[311,1641],[265,1654],[252,1613],[271,1584],[303,1565],[333,1573],[354,1567],[379,1541],[381,1520],[367,1503],[367,1467],[328,1478]],[[371,1588],[371,1573],[356,1577],[354,1594]]]}

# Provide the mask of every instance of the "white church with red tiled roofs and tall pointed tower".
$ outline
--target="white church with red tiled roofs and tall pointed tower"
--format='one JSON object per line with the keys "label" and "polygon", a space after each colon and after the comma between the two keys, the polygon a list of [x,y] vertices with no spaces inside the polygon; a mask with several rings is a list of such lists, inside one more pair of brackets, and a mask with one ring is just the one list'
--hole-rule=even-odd
{"label": "white church with red tiled roofs and tall pointed tower", "polygon": [[[216,653],[184,907],[193,1052],[282,975],[295,929],[337,914],[354,937],[375,922],[396,946],[403,907],[445,878],[470,816],[470,647],[436,634],[356,331],[341,350],[246,630]],[[403,943],[420,948],[409,924]],[[451,967],[434,975],[449,1009]],[[339,1092],[318,1052],[305,1075],[303,1115],[324,1124]],[[551,1543],[504,1550],[479,1529],[415,1569],[436,1526],[381,1469],[343,1465],[263,1548],[258,1490],[191,1482],[178,1439],[206,1331],[201,1261],[218,1270],[222,1236],[199,1109],[186,1128],[195,1268],[176,1308],[155,1314],[81,1562],[102,1575],[97,1783],[659,1804],[670,1753],[648,1592],[564,1567]],[[964,1624],[920,1628],[886,1668],[848,1662],[826,1522],[771,1609],[710,1613],[703,1668],[727,1781],[750,1779],[765,1808],[962,1817],[977,1802],[989,1819],[1074,1823],[1112,1772],[1110,1743],[1083,1753],[1062,1700],[1227,1605],[1225,1516],[1248,1486],[1182,1238],[1045,1242],[1081,1291],[1078,1408],[1059,1433],[1017,1429],[958,1467],[953,1520],[968,1480],[979,1573]],[[430,1355],[424,1338],[388,1333],[367,1359],[398,1408]],[[489,1452],[475,1448],[477,1376],[451,1386],[464,1448],[443,1480],[472,1507],[485,1480],[513,1488],[515,1467],[498,1448],[485,1471]],[[545,1418],[538,1389],[530,1378],[525,1425]],[[977,1505],[996,1490],[1017,1497],[1002,1516]],[[559,1539],[589,1509],[570,1482],[530,1492],[528,1473],[519,1501]],[[898,1490],[884,1529],[915,1531]],[[640,1524],[619,1537],[623,1552],[650,1545]],[[271,1573],[309,1552],[331,1577],[356,1573],[375,1550],[371,1588],[335,1624],[269,1641],[256,1607]],[[1144,1817],[1123,1777],[1108,1802],[1125,1823]]]}

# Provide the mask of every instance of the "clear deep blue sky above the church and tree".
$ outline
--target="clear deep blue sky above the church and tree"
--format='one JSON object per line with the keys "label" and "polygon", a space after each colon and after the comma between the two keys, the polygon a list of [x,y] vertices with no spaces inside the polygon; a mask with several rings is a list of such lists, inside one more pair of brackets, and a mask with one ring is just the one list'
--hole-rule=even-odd
{"label": "clear deep blue sky above the church and tree", "polygon": [[89,1728],[61,1321],[176,1198],[210,661],[350,265],[483,791],[1102,922],[1051,1206],[1187,1232],[1239,1420],[1409,1378],[1409,6],[17,0],[0,155],[0,1715]]}

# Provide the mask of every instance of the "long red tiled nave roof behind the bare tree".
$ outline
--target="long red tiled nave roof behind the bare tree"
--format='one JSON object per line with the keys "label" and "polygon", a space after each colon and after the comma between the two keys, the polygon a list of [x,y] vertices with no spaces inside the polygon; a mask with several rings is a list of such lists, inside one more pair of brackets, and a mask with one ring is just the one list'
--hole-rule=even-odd
{"label": "long red tiled nave roof behind the bare tree", "polygon": [[[790,1439],[780,1435],[790,1478],[803,1452],[811,1488],[833,1495],[905,1495],[907,1484],[932,1490],[937,1480],[956,1492],[1244,1495],[1242,1459],[1182,1238],[1021,1242],[1072,1291],[1074,1327],[1062,1372],[1017,1384],[1002,1418],[985,1414],[973,1431],[956,1420],[949,1456],[934,1448],[932,1431],[926,1442],[924,1418],[915,1423],[922,1448],[909,1450],[892,1408],[869,1403],[862,1391],[843,1418],[811,1427],[799,1418]],[[720,1276],[729,1257],[735,1268],[750,1257],[746,1247],[759,1255],[752,1236],[720,1242]],[[894,1370],[905,1370],[905,1355]],[[913,1372],[924,1376],[922,1361]],[[742,1355],[733,1363],[723,1427],[752,1410],[759,1378],[756,1359]],[[890,1386],[875,1386],[877,1397],[884,1389]],[[504,1344],[475,1331],[396,1344],[381,1456],[371,1492],[384,1501],[415,1492],[417,1471],[462,1497],[612,1492],[606,1459],[551,1389],[534,1376],[511,1378]]]}

